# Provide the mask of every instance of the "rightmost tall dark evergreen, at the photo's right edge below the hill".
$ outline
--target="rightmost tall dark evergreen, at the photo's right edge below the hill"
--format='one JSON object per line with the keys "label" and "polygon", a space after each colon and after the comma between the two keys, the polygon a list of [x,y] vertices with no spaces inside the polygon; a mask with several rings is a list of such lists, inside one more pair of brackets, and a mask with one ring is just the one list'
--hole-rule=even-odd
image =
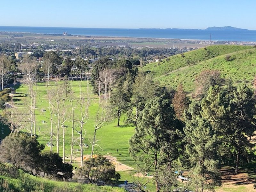
{"label": "rightmost tall dark evergreen, at the photo's right edge below the hill", "polygon": [[255,131],[255,100],[252,97],[253,91],[245,84],[238,85],[234,90],[234,98],[230,101],[230,129],[233,132],[232,144],[236,151],[236,169],[242,157],[250,160],[248,157],[253,154],[253,145],[249,142],[247,136]]}

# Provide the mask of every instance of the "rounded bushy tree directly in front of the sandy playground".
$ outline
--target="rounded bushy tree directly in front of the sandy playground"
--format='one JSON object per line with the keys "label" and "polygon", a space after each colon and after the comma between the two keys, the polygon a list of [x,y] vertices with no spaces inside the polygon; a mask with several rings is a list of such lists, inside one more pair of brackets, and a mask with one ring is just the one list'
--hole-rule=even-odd
{"label": "rounded bushy tree directly in front of the sandy playground", "polygon": [[95,158],[85,160],[84,167],[78,168],[76,175],[84,177],[89,183],[104,181],[111,184],[112,180],[120,179],[120,174],[116,173],[115,166],[100,154]]}

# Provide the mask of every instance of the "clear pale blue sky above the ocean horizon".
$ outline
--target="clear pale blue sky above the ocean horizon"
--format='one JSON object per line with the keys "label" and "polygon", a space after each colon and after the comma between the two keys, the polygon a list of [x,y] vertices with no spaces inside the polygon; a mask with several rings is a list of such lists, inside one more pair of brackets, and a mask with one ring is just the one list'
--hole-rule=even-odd
{"label": "clear pale blue sky above the ocean horizon", "polygon": [[0,26],[256,30],[255,0],[3,0],[0,6]]}

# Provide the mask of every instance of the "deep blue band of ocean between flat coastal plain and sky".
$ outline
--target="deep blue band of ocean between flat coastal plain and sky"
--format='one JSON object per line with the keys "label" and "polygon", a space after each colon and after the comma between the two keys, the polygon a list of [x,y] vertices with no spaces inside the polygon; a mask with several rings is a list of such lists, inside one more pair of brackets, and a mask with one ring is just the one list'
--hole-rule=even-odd
{"label": "deep blue band of ocean between flat coastal plain and sky", "polygon": [[120,29],[120,28],[61,28],[0,26],[1,32],[51,33],[82,36],[171,38],[212,41],[256,42],[256,30],[202,30],[202,29]]}

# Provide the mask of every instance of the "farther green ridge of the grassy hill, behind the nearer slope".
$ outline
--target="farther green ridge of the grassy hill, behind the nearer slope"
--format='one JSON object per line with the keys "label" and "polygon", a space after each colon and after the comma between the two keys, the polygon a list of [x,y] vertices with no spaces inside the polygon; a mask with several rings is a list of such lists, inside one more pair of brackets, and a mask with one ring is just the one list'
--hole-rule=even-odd
{"label": "farther green ridge of the grassy hill, behind the nearer slope", "polygon": [[149,63],[142,68],[142,71],[150,71],[150,73],[159,77],[165,75],[173,70],[196,65],[197,63],[212,59],[219,55],[237,52],[241,50],[250,49],[252,46],[240,46],[240,45],[214,45],[206,48],[201,48],[198,50],[186,52],[183,54],[174,55],[172,57],[166,58],[161,62]]}

